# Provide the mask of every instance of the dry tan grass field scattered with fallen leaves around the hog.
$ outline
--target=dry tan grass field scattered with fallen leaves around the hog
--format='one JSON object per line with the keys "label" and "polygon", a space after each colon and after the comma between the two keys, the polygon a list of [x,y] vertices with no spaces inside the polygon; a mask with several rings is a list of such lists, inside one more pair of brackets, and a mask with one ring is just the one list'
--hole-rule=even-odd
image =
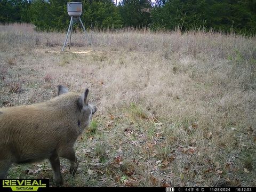
{"label": "dry tan grass field scattered with fallen leaves around the hog", "polygon": [[[98,111],[64,187],[256,187],[256,38],[204,31],[39,33],[0,26],[0,107],[90,89]],[[8,178],[50,178],[47,161]]]}

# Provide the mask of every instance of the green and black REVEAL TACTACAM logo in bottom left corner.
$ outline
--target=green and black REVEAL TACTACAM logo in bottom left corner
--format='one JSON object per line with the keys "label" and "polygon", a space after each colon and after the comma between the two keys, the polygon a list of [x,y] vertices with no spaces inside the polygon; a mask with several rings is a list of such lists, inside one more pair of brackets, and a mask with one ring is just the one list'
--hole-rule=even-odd
{"label": "green and black REVEAL TACTACAM logo in bottom left corner", "polygon": [[48,179],[3,179],[3,188],[11,188],[12,191],[37,191],[38,188],[49,187]]}

